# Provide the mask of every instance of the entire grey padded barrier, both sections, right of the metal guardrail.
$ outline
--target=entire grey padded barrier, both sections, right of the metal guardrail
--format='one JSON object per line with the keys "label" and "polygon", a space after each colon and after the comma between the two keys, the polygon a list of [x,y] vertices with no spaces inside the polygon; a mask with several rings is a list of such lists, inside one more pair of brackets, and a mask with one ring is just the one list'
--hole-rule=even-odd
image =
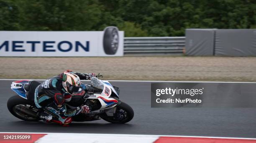
{"label": "entire grey padded barrier, both sections, right of the metal guardrail", "polygon": [[256,56],[256,29],[187,29],[186,55]]}

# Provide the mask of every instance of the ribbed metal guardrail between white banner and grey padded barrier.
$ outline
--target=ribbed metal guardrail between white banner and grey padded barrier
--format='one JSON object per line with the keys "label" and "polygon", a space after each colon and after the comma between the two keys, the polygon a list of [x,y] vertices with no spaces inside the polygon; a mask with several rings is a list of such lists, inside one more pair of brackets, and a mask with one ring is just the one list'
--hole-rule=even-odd
{"label": "ribbed metal guardrail between white banner and grey padded barrier", "polygon": [[182,55],[185,37],[125,37],[124,54],[129,55]]}

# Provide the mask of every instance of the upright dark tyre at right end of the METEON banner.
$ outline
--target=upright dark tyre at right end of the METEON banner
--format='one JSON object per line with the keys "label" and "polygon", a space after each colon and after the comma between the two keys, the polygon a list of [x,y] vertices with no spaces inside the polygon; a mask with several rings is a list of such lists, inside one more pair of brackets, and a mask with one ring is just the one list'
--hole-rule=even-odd
{"label": "upright dark tyre at right end of the METEON banner", "polygon": [[118,50],[118,28],[106,27],[103,34],[103,48],[106,54],[113,55]]}

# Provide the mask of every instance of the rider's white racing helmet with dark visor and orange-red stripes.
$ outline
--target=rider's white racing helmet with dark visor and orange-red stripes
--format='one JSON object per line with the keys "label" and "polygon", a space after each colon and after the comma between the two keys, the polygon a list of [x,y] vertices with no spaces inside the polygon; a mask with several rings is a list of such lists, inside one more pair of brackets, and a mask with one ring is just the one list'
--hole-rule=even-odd
{"label": "rider's white racing helmet with dark visor and orange-red stripes", "polygon": [[64,73],[62,78],[62,86],[69,94],[74,94],[79,91],[81,81],[79,76],[72,73]]}

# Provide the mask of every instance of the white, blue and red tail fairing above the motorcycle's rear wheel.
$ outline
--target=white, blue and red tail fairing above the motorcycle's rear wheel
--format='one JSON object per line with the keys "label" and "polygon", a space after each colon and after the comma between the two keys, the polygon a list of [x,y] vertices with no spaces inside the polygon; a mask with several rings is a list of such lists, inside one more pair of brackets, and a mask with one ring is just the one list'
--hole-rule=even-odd
{"label": "white, blue and red tail fairing above the motorcycle's rear wheel", "polygon": [[28,83],[29,80],[19,80],[19,81],[13,81],[11,84],[11,89],[15,91],[20,97],[23,99],[27,99],[26,96],[26,90],[24,89],[24,84]]}

